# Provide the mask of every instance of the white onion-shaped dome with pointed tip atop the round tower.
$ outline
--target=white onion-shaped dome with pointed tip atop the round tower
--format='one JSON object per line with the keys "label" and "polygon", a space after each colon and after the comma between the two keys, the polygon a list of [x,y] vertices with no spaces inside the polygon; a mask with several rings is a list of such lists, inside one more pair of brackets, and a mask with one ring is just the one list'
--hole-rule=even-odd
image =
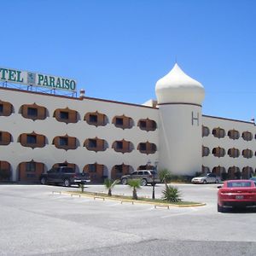
{"label": "white onion-shaped dome with pointed tip atop the round tower", "polygon": [[205,97],[205,90],[201,83],[183,73],[183,70],[176,63],[170,73],[156,82],[155,94],[158,104],[189,103],[201,105]]}

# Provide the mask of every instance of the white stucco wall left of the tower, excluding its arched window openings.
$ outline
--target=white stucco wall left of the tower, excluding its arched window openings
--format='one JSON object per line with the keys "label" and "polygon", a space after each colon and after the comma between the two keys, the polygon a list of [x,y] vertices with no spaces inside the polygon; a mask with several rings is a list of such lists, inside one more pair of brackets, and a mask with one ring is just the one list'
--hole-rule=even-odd
{"label": "white stucco wall left of the tower, excluding its arched window openings", "polygon": [[[0,117],[1,131],[9,131],[13,137],[13,142],[8,146],[0,146],[0,160],[8,161],[13,170],[13,180],[17,179],[18,165],[23,161],[43,162],[47,169],[55,163],[67,162],[74,163],[82,171],[87,164],[103,164],[108,167],[108,174],[115,165],[124,163],[134,169],[138,166],[146,165],[148,160],[154,163],[158,160],[158,151],[155,154],[141,154],[137,150],[138,143],[155,143],[158,147],[158,129],[155,131],[142,131],[137,122],[139,119],[153,119],[158,123],[158,109],[145,108],[135,105],[126,105],[117,102],[97,101],[95,99],[84,98],[83,100],[71,99],[67,97],[49,96],[42,94],[32,94],[17,90],[0,89],[0,100],[10,102],[14,106],[14,112],[9,117]],[[20,106],[23,104],[36,103],[48,109],[49,117],[44,120],[25,119],[19,113]],[[57,121],[53,117],[56,108],[70,108],[79,112],[80,119],[76,124],[66,124]],[[88,125],[84,121],[84,114],[87,112],[105,113],[108,117],[108,125],[98,126]],[[112,124],[112,119],[116,115],[129,116],[134,120],[131,129],[120,129]],[[35,131],[47,137],[47,144],[44,148],[26,148],[17,143],[21,133],[31,133]],[[79,147],[77,149],[64,150],[55,148],[52,144],[54,137],[68,135],[77,137]],[[103,152],[89,151],[83,147],[86,138],[99,137],[108,142],[108,148]],[[112,148],[116,140],[125,139],[134,145],[131,153],[118,153]]]}

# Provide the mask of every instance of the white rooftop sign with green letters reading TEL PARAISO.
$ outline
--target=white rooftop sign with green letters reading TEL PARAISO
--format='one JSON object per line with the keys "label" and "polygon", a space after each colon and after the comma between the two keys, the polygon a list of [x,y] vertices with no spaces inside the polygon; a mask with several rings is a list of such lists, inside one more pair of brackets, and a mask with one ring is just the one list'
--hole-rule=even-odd
{"label": "white rooftop sign with green letters reading TEL PARAISO", "polygon": [[73,79],[65,79],[42,73],[32,73],[3,67],[0,67],[0,81],[69,91],[76,91],[77,87],[76,81]]}

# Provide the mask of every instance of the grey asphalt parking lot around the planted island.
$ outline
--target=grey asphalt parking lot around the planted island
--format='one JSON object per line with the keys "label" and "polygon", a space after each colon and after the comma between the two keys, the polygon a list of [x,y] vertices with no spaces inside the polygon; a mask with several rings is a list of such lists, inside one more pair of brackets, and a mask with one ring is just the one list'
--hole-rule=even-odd
{"label": "grey asphalt parking lot around the planted island", "polygon": [[[256,213],[218,213],[217,185],[175,184],[184,201],[205,207],[93,200],[52,193],[78,190],[43,185],[0,185],[0,255],[254,255]],[[163,184],[156,186],[161,196]],[[90,185],[87,191],[106,191]],[[117,185],[113,194],[131,195]],[[138,190],[151,196],[152,187]]]}

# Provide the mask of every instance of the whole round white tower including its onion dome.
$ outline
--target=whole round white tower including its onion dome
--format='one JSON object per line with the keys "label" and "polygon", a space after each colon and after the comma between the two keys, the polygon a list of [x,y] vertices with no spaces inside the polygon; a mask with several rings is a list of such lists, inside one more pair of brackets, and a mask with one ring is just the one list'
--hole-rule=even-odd
{"label": "whole round white tower including its onion dome", "polygon": [[155,84],[159,106],[160,169],[177,175],[201,172],[203,86],[174,65]]}

